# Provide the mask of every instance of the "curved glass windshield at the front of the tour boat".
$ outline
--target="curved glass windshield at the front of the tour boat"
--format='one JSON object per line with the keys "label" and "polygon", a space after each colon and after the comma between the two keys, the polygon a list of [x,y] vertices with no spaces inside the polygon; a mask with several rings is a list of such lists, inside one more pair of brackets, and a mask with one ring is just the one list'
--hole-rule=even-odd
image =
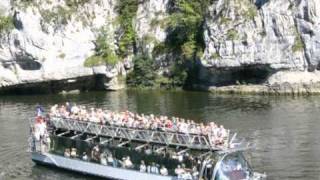
{"label": "curved glass windshield at the front of the tour boat", "polygon": [[241,152],[227,154],[217,164],[215,180],[250,179],[252,170]]}

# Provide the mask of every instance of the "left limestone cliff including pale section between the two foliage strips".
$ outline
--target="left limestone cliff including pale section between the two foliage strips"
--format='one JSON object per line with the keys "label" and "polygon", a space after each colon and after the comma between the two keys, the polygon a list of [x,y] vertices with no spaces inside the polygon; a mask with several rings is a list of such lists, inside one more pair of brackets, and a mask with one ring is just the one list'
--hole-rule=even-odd
{"label": "left limestone cliff including pale section between the two foliage strips", "polygon": [[[12,16],[15,24],[11,32],[1,37],[0,88],[93,75],[104,76],[106,89],[110,84],[111,89],[123,87],[115,82],[118,75],[125,75],[132,68],[132,55],[115,66],[84,66],[94,53],[93,42],[101,27],[107,30],[108,44],[117,50],[117,1],[93,0],[76,9],[66,2],[0,2],[0,15]],[[168,0],[139,3],[133,24],[140,49],[151,53],[155,43],[164,41],[165,31],[157,22],[165,17],[167,3]]]}

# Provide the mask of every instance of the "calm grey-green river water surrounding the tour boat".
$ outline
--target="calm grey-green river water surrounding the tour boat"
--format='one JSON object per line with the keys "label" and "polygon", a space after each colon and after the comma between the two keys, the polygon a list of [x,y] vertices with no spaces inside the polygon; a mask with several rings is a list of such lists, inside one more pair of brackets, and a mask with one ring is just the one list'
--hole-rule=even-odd
{"label": "calm grey-green river water surrounding the tour boat", "polygon": [[[79,95],[0,96],[0,180],[95,178],[37,166],[27,153],[28,118],[37,103],[66,101],[215,121],[255,146],[253,168],[268,179],[320,179],[320,97],[214,95],[183,91],[89,92]],[[48,108],[47,108],[48,109]]]}

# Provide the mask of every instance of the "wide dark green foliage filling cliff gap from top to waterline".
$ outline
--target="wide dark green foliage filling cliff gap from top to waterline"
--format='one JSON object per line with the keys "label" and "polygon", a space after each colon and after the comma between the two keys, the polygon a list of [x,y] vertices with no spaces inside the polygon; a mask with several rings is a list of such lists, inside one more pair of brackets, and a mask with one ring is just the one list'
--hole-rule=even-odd
{"label": "wide dark green foliage filling cliff gap from top to waterline", "polygon": [[[162,21],[167,27],[167,38],[153,50],[154,55],[171,53],[175,57],[168,77],[158,77],[157,84],[167,87],[184,86],[194,71],[195,62],[205,47],[203,24],[210,0],[173,0],[169,17]],[[156,22],[156,21],[155,21]],[[153,24],[155,23],[153,22]]]}

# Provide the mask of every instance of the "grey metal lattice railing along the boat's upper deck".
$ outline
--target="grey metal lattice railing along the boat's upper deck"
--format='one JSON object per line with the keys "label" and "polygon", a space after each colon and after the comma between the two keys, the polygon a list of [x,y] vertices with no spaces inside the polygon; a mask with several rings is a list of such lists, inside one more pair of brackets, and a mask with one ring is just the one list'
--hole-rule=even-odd
{"label": "grey metal lattice railing along the boat's upper deck", "polygon": [[169,131],[133,129],[110,125],[101,125],[94,122],[79,121],[63,117],[51,117],[51,123],[55,128],[84,132],[111,138],[121,138],[128,141],[142,141],[146,143],[158,143],[173,145],[198,150],[222,150],[212,144],[207,135],[186,134]]}

